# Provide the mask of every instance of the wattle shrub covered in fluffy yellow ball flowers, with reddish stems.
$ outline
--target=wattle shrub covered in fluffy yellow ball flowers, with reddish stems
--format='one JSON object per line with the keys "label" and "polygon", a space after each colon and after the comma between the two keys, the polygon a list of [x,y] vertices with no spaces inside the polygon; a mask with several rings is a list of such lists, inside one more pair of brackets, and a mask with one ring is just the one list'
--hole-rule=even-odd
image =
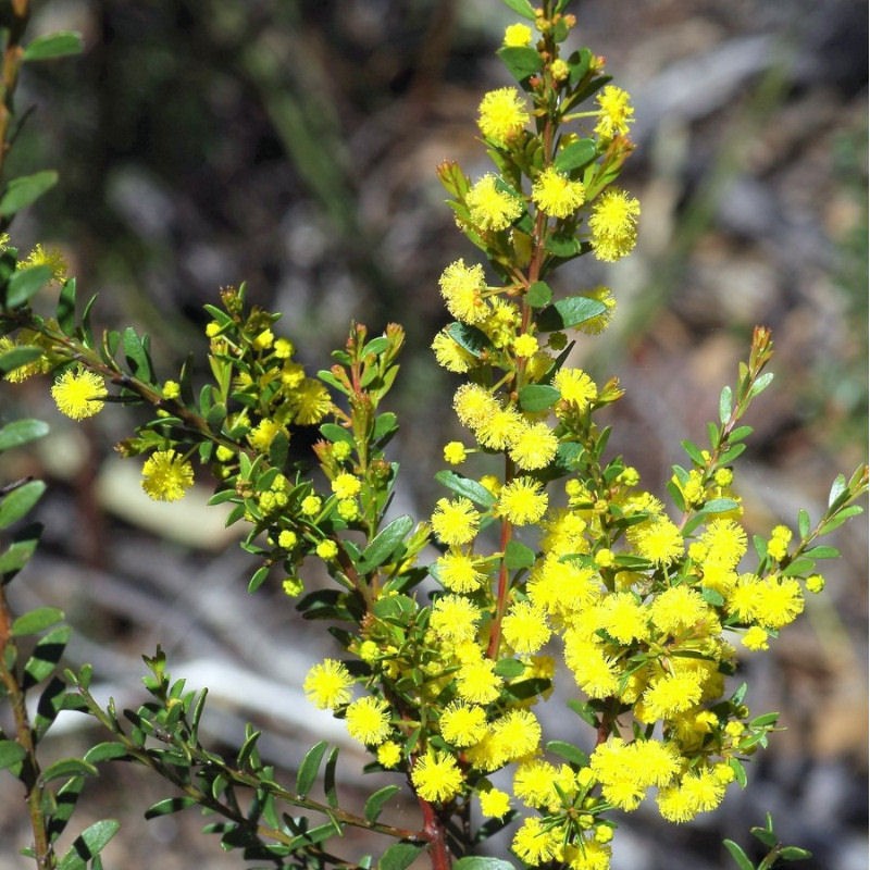
{"label": "wattle shrub covered in fluffy yellow ball flowers, with reddish stems", "polygon": [[[763,327],[735,386],[721,391],[706,443],[683,443],[668,507],[608,453],[599,414],[622,390],[616,380],[595,384],[570,353],[582,334],[606,330],[612,295],[559,298],[549,281],[577,257],[612,262],[634,246],[641,207],[614,184],[632,150],[633,109],[602,59],[564,49],[575,26],[567,0],[538,10],[506,1],[523,20],[498,51],[515,84],[484,95],[477,119],[493,169],[472,181],[456,163],[438,167],[457,225],[489,272],[461,259],[439,279],[453,321],[433,350],[461,376],[452,408],[468,436],[444,446],[446,494],[424,518],[389,513],[398,421],[384,403],[399,371],[398,325],[371,336],[352,324],[332,366],[312,376],[279,315],[249,306],[244,285],[229,287],[207,306],[210,380],[195,384],[189,361],[164,378],[147,336],[95,330],[94,298],[80,304],[60,263],[3,248],[10,378],[51,372],[52,396],[73,419],[111,401],[151,409],[119,445],[145,457],[146,493],[182,498],[195,463],[210,471],[213,501],[249,530],[249,591],[277,580],[340,647],[312,668],[306,693],[346,721],[371,753],[368,770],[396,776],[351,808],[337,787],[338,749],[325,742],[295,783],[263,762],[256,731],[228,761],[200,742],[206,693],[171,680],[161,650],[146,658],[151,697],[136,710],[101,707],[90,668],[67,672],[64,704],[110,734],[77,763],[151,769],[176,792],[148,816],[201,807],[220,819],[207,830],[246,860],[402,870],[425,853],[435,870],[500,870],[513,865],[483,857],[482,844],[518,820],[522,866],[605,870],[617,811],[636,810],[651,788],[664,822],[714,809],[732,783],[746,785],[745,762],[776,723],[775,712],[748,709],[732,642],[767,650],[779,638],[824,586],[817,561],[837,556],[819,538],[861,510],[866,467],[836,478],[822,517],[800,510],[794,529],[755,537],[750,556],[735,464],[751,433],[743,418],[772,378]],[[39,313],[51,282],[58,303]],[[310,426],[320,435],[315,473],[290,450]],[[331,587],[306,592],[312,562]],[[436,592],[421,591],[426,579]],[[572,741],[548,738],[536,713],[558,680],[573,694]],[[12,743],[18,761],[32,757]],[[511,774],[508,790],[499,771]],[[417,826],[382,821],[401,790],[417,799]],[[353,826],[385,837],[378,858],[343,849]],[[775,843],[770,823],[760,830],[771,849],[760,867],[800,857]]]}

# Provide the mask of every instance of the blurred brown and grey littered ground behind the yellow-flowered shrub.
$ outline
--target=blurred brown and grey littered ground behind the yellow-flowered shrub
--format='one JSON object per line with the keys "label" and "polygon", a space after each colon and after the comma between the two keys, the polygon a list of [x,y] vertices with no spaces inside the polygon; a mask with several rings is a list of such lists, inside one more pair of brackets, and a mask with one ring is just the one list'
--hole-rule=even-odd
{"label": "blurred brown and grey littered ground behind the yellow-flowered shrub", "polygon": [[[575,44],[607,58],[636,107],[622,183],[643,203],[637,249],[607,269],[582,258],[560,285],[606,283],[618,299],[613,327],[573,360],[627,390],[611,448],[660,489],[766,324],[776,378],[748,420],[756,434],[737,476],[747,523],[765,534],[794,527],[800,507],[818,517],[833,477],[867,451],[867,4],[585,0],[573,11]],[[23,76],[18,105],[35,116],[10,175],[50,166],[61,182],[16,221],[13,241],[59,247],[83,297],[99,293],[97,322],[152,335],[162,377],[204,351],[202,304],[241,281],[284,312],[281,330],[315,369],[351,318],[373,331],[403,323],[398,500],[423,514],[456,433],[455,382],[427,350],[445,322],[437,277],[474,257],[434,170],[444,159],[472,176],[487,170],[474,116],[485,89],[510,84],[494,51],[514,20],[498,0],[37,3],[32,36],[77,29],[86,50]],[[160,643],[175,675],[212,689],[215,745],[251,720],[287,770],[319,737],[345,746],[340,723],[315,717],[299,688],[330,649],[322,626],[300,625],[277,582],[246,594],[248,557],[204,509],[204,485],[176,506],[142,504],[138,464],[112,453],[130,418],[73,424],[45,384],[3,387],[0,402],[3,422],[52,426],[3,470],[50,482],[45,546],[12,586],[15,601],[64,607],[72,659],[95,663],[105,697],[134,705],[140,655]],[[863,520],[833,543],[844,558],[822,566],[824,596],[771,655],[746,658],[753,708],[781,710],[787,726],[750,765],[749,791],[680,828],[634,813],[614,870],[729,867],[722,836],[748,845],[767,810],[784,838],[813,850],[801,868],[868,866]],[[571,734],[572,713],[549,716]],[[65,725],[49,753],[95,739],[76,719]],[[343,751],[352,801],[361,757]],[[79,826],[123,820],[107,866],[238,867],[197,833],[196,815],[142,821],[167,794],[112,766],[86,792]],[[0,870],[30,866],[15,857],[28,836],[21,807],[0,781]]]}

